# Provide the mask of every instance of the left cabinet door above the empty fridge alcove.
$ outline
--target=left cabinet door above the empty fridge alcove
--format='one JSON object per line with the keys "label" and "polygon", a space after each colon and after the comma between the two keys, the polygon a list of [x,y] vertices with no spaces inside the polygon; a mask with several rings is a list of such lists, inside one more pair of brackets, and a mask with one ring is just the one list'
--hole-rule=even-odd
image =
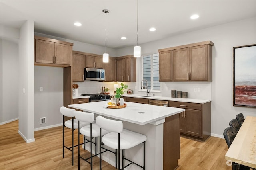
{"label": "left cabinet door above the empty fridge alcove", "polygon": [[37,63],[54,63],[54,42],[36,39]]}

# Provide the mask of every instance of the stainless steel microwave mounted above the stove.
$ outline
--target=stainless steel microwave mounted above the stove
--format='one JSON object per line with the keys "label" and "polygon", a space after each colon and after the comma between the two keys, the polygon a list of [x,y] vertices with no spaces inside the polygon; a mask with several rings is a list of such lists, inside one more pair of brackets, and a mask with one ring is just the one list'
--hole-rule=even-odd
{"label": "stainless steel microwave mounted above the stove", "polygon": [[84,80],[105,80],[105,70],[99,68],[84,68]]}

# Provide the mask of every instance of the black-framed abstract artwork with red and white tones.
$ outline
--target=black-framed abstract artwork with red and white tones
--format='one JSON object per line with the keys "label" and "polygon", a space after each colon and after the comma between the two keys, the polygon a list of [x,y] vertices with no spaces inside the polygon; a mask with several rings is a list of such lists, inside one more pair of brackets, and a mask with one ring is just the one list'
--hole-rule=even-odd
{"label": "black-framed abstract artwork with red and white tones", "polygon": [[233,47],[233,106],[256,107],[256,44]]}

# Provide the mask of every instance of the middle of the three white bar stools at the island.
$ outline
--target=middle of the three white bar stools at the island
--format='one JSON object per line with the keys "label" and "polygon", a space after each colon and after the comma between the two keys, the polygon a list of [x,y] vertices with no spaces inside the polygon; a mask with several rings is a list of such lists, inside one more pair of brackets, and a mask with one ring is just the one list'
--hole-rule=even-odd
{"label": "middle of the three white bar stools at the island", "polygon": [[[94,113],[88,113],[88,112],[82,112],[82,111],[76,111],[75,112],[75,117],[78,120],[78,129],[80,129],[78,131],[78,146],[80,145],[80,140],[79,140],[79,135],[80,133],[82,135],[84,135],[84,139],[85,136],[90,137],[90,152],[91,155],[89,158],[82,158],[82,156],[80,156],[80,147],[78,147],[78,170],[80,170],[80,158],[86,162],[88,162],[91,165],[91,170],[92,170],[92,158],[94,156],[97,156],[97,137],[100,136],[100,127],[95,123],[94,121]],[[79,122],[83,121],[83,122],[88,122],[90,123],[90,125],[84,126],[80,128]],[[105,135],[109,133],[108,131],[102,130],[102,135]],[[95,137],[95,142],[92,142],[92,138]],[[87,139],[86,139],[87,140]],[[85,141],[84,141],[85,143]],[[92,144],[95,145],[95,155],[92,156]],[[84,148],[85,149],[85,148]],[[106,152],[107,150],[105,150],[104,152]],[[90,162],[88,161],[88,159],[90,159]]]}

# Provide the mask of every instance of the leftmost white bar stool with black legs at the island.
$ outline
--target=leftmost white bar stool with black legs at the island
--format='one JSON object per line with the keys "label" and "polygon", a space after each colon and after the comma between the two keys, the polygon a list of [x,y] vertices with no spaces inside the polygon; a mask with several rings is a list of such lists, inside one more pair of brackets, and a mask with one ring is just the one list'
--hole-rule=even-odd
{"label": "leftmost white bar stool with black legs at the island", "polygon": [[[63,115],[63,129],[62,129],[62,135],[63,135],[63,141],[62,141],[62,146],[63,146],[63,158],[64,158],[64,148],[70,150],[72,152],[72,165],[74,165],[74,147],[77,147],[78,145],[74,146],[74,130],[78,129],[78,120],[74,119],[74,113],[76,112],[75,109],[70,109],[66,108],[64,106],[60,107],[60,113]],[[72,119],[65,121],[64,117],[72,117]],[[80,122],[79,126],[84,127],[86,125],[89,125],[90,123],[88,122]],[[72,129],[72,146],[67,147],[64,143],[64,127],[67,127],[69,129]]]}

